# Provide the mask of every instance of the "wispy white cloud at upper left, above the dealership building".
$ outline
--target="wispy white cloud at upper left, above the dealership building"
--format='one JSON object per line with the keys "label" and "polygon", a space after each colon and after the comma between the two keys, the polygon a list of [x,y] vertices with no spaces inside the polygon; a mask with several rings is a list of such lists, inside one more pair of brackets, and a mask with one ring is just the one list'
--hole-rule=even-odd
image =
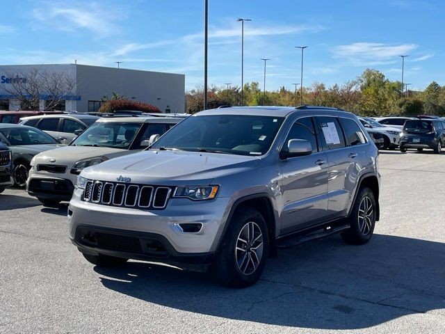
{"label": "wispy white cloud at upper left, above the dealership building", "polygon": [[99,6],[85,1],[43,1],[33,10],[33,17],[39,25],[64,31],[87,29],[97,37],[119,32],[115,22],[126,17],[122,10]]}

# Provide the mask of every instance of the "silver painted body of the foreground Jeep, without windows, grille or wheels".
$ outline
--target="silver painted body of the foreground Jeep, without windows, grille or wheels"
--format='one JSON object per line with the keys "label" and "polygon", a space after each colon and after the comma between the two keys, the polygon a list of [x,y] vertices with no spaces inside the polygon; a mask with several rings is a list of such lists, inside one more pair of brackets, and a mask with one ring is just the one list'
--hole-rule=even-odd
{"label": "silver painted body of the foreground Jeep, without windows, grille or wheels", "polygon": [[[184,262],[195,263],[190,260],[195,255],[201,259],[197,262],[207,264],[211,261],[209,256],[218,249],[231,215],[245,200],[265,200],[270,204],[270,223],[274,225],[275,239],[279,239],[309,226],[348,216],[362,180],[372,178],[378,189],[378,150],[351,113],[317,107],[232,107],[202,111],[191,118],[218,114],[275,116],[283,117],[284,122],[270,150],[259,156],[146,150],[86,168],[81,177],[98,186],[97,181],[102,182],[102,186],[113,184],[115,190],[118,184],[123,184],[127,191],[131,185],[138,186],[138,191],[142,191],[143,186],[153,186],[154,191],[166,187],[172,192],[177,186],[185,185],[220,187],[216,198],[203,201],[172,198],[169,192],[165,206],[160,209],[137,207],[137,200],[135,205],[115,206],[111,199],[111,204],[106,205],[100,193],[98,200],[86,200],[84,191],[75,189],[68,218],[70,239],[79,250],[92,255],[100,252],[175,263],[179,267],[186,267]],[[280,150],[293,123],[314,116],[354,120],[366,143],[280,159]],[[179,228],[181,223],[196,223],[202,228],[193,233],[184,232]],[[79,231],[84,226],[112,233],[153,235],[165,243],[170,257],[129,255],[129,251],[88,246],[79,239],[82,238]]]}

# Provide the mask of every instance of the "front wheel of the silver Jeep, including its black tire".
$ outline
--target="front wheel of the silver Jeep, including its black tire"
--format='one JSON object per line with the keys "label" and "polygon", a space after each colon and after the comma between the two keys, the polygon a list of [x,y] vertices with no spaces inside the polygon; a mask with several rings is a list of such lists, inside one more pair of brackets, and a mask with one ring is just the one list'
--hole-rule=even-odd
{"label": "front wheel of the silver Jeep, including its black tire", "polygon": [[[223,285],[249,287],[257,282],[266,265],[269,250],[266,221],[256,209],[243,207],[236,210],[229,224],[213,273]],[[250,230],[253,233],[248,239]],[[243,242],[244,239],[248,242]]]}

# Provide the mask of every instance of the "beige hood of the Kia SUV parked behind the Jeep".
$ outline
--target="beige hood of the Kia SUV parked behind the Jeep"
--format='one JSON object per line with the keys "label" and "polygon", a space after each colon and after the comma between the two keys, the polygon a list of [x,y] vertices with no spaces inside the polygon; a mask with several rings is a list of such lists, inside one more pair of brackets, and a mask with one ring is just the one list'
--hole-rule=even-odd
{"label": "beige hood of the Kia SUV parked behind the Jeep", "polygon": [[[95,148],[93,146],[65,146],[63,148],[56,148],[55,150],[49,150],[42,152],[35,156],[34,164],[47,164],[50,159],[54,159],[53,164],[68,166],[69,168],[74,166],[77,161],[90,159],[95,157],[107,157],[111,159],[113,157],[120,156],[122,154],[129,154],[132,151],[122,150],[119,148]],[[134,152],[134,151],[133,151]]]}

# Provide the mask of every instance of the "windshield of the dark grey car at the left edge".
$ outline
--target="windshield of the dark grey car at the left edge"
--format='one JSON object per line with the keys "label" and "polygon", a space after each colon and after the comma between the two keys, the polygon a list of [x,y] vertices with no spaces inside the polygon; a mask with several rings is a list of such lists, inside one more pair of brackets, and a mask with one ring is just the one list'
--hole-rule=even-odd
{"label": "windshield of the dark grey car at the left edge", "polygon": [[39,129],[28,127],[7,127],[0,129],[1,134],[8,139],[10,145],[38,145],[38,144],[56,144],[57,141],[45,134]]}

